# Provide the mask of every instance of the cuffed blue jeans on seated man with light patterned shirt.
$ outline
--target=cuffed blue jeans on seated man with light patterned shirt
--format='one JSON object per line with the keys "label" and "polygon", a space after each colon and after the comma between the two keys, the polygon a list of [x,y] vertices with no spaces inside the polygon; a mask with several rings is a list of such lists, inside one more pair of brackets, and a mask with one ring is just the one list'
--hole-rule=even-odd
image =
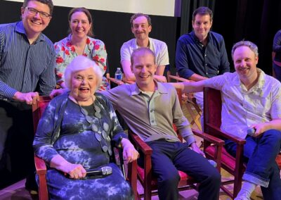
{"label": "cuffed blue jeans on seated man with light patterned shirt", "polygon": [[[233,156],[236,144],[226,140],[226,150]],[[280,152],[281,132],[267,130],[261,137],[246,137],[244,161],[247,163],[243,180],[261,186],[264,199],[281,199],[280,170],[275,158]]]}

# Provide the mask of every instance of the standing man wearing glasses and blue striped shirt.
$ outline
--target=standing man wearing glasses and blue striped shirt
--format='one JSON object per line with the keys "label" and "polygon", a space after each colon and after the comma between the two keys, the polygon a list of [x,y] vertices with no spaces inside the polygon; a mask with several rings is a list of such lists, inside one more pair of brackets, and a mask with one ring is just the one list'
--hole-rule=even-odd
{"label": "standing man wearing glasses and blue striped shirt", "polygon": [[[34,174],[31,105],[55,87],[55,50],[41,33],[52,11],[51,0],[25,0],[22,20],[0,26],[0,176],[11,181],[6,184]],[[30,180],[26,187],[34,189]]]}

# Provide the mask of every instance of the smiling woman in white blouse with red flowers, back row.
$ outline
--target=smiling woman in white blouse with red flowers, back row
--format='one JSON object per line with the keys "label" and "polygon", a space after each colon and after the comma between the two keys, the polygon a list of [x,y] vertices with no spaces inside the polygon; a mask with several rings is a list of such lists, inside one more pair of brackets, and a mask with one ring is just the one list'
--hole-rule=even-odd
{"label": "smiling woman in white blouse with red flowers, back row", "polygon": [[[91,13],[86,8],[72,8],[68,14],[70,24],[70,35],[55,42],[56,67],[55,75],[57,85],[65,88],[64,73],[67,65],[76,56],[82,55],[95,61],[103,74],[105,73],[107,53],[105,44],[93,38],[93,20]],[[107,79],[103,77],[103,82],[99,90],[109,89]]]}

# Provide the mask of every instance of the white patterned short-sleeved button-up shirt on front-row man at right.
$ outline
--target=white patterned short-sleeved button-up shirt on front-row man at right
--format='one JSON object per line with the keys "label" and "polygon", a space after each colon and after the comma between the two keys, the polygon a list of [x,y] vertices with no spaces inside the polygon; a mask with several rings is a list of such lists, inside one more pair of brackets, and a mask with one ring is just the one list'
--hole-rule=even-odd
{"label": "white patterned short-sleeved button-up shirt on front-row man at right", "polygon": [[249,90],[236,72],[204,80],[205,87],[221,90],[221,129],[243,139],[250,125],[281,118],[281,83],[257,72],[259,80]]}

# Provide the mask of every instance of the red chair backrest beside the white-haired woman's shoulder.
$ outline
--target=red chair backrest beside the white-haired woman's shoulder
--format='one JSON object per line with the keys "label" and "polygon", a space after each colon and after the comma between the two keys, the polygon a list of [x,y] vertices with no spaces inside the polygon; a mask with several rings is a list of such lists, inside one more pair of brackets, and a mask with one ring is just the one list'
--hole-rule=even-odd
{"label": "red chair backrest beside the white-haired woman's shoulder", "polygon": [[50,96],[39,96],[39,101],[37,104],[32,105],[32,116],[33,116],[33,127],[34,134],[37,131],[37,125],[41,118],[41,115],[44,113],[46,106],[51,101]]}

